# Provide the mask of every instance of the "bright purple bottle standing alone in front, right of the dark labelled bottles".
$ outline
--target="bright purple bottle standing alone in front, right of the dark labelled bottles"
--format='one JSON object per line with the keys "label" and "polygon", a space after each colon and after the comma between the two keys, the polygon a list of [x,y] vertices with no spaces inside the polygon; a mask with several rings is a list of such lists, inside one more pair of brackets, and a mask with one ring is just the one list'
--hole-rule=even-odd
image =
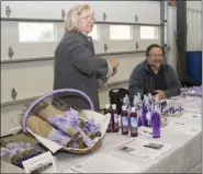
{"label": "bright purple bottle standing alone in front, right of the dark labelled bottles", "polygon": [[160,114],[155,111],[151,116],[153,138],[160,138]]}

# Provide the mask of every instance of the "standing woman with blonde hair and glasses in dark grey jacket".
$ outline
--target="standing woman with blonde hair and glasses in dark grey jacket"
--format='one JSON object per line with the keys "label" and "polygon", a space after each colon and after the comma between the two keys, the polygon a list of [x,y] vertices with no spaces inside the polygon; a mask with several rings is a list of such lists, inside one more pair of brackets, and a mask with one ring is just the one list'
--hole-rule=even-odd
{"label": "standing woman with blonde hair and glasses in dark grey jacket", "polygon": [[[106,60],[94,54],[92,38],[88,36],[93,23],[93,10],[88,4],[76,5],[67,13],[65,34],[55,50],[54,90],[80,90],[100,112],[99,88],[116,73],[120,61],[114,57]],[[80,109],[90,108],[88,102],[76,94],[57,97]]]}

